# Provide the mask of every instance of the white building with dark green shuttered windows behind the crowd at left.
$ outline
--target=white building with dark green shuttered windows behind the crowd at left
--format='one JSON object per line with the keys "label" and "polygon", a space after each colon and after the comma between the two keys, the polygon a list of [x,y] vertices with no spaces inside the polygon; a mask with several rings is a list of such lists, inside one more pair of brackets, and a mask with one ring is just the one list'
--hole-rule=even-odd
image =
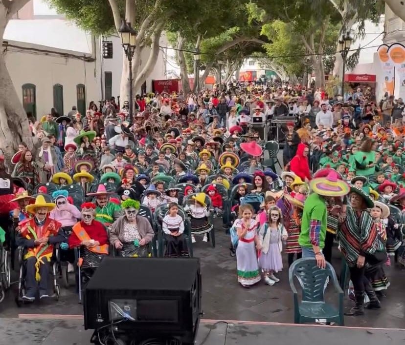
{"label": "white building with dark green shuttered windows behind the crowd at left", "polygon": [[[40,119],[52,107],[67,114],[73,105],[84,113],[90,101],[98,106],[118,96],[123,48],[118,37],[108,40],[113,41],[113,59],[102,58],[101,38],[68,22],[45,1],[29,1],[10,20],[3,38],[7,69],[28,115]],[[162,36],[160,45],[166,44]],[[164,79],[165,70],[161,51],[146,92],[153,79]]]}

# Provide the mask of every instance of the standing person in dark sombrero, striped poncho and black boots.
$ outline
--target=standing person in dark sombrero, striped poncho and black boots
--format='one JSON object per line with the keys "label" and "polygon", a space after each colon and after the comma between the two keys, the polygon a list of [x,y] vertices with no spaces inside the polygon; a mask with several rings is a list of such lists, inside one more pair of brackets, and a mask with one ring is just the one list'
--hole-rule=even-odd
{"label": "standing person in dark sombrero, striped poncho and black boots", "polygon": [[355,305],[345,315],[364,314],[364,295],[370,299],[369,309],[380,308],[380,301],[370,281],[365,277],[366,265],[378,266],[387,261],[385,245],[378,235],[376,224],[368,211],[374,208],[374,202],[367,187],[350,186],[350,204],[347,205],[346,217],[337,231],[340,252],[349,266],[350,279],[356,297]]}

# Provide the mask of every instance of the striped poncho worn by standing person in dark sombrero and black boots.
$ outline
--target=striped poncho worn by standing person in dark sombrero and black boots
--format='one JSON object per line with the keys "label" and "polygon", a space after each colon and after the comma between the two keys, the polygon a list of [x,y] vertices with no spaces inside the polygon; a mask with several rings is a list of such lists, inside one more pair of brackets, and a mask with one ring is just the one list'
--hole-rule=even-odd
{"label": "striped poncho worn by standing person in dark sombrero and black boots", "polygon": [[360,255],[374,254],[383,250],[378,233],[370,213],[364,209],[355,211],[347,206],[346,219],[337,232],[341,252],[349,265],[353,267]]}

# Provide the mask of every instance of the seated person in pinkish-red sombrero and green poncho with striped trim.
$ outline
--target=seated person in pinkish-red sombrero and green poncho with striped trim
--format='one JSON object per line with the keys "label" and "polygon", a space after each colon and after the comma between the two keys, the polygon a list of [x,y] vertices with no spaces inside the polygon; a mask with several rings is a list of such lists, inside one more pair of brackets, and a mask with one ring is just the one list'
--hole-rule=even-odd
{"label": "seated person in pinkish-red sombrero and green poncho with striped trim", "polygon": [[121,215],[121,206],[109,200],[111,194],[113,193],[107,192],[104,184],[99,184],[96,192],[87,193],[96,206],[94,219],[107,227]]}

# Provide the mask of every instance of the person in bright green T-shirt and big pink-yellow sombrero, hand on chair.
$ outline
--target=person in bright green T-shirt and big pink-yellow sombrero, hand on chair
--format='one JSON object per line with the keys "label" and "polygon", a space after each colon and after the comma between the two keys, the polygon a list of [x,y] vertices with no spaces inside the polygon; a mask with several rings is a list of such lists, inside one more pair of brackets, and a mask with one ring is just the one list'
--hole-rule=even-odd
{"label": "person in bright green T-shirt and big pink-yellow sombrero, hand on chair", "polygon": [[[326,177],[311,180],[310,187],[312,194],[308,196],[304,205],[298,243],[301,246],[303,258],[315,257],[318,267],[325,268],[322,249],[325,246],[328,223],[326,202],[330,198],[347,195],[350,187],[346,182],[338,179],[335,171],[331,171]],[[330,212],[337,214],[342,212],[341,210],[342,207],[336,205]]]}

